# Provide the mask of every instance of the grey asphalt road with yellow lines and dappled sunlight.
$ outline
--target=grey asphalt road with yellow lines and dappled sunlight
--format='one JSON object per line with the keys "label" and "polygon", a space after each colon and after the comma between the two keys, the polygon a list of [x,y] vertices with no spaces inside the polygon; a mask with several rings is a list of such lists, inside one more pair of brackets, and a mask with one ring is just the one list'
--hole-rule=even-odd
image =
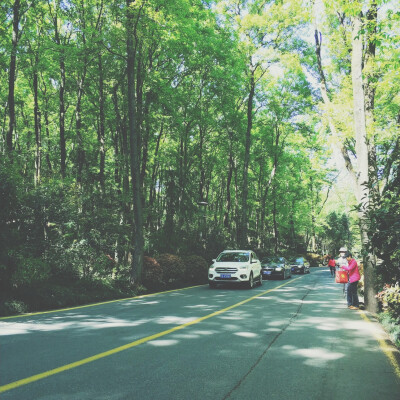
{"label": "grey asphalt road with yellow lines and dappled sunlight", "polygon": [[0,399],[398,399],[398,353],[327,269],[0,319]]}

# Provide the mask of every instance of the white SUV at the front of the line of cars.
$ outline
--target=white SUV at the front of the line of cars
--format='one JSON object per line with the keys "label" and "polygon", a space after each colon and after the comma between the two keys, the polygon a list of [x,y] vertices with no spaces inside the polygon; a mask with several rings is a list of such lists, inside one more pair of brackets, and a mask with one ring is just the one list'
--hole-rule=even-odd
{"label": "white SUV at the front of the line of cars", "polygon": [[219,283],[262,285],[261,263],[251,250],[225,250],[213,260],[208,269],[210,288]]}

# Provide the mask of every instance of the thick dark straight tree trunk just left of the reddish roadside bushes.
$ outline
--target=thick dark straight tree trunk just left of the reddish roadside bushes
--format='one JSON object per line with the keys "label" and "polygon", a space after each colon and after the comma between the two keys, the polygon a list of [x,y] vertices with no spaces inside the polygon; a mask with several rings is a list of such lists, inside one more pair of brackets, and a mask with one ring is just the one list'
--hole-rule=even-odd
{"label": "thick dark straight tree trunk just left of the reddish roadside bushes", "polygon": [[127,73],[128,73],[128,120],[130,139],[130,167],[133,192],[133,214],[135,221],[134,255],[131,265],[131,282],[140,284],[143,269],[143,210],[140,185],[140,143],[139,131],[135,122],[135,47],[133,43],[135,35],[134,24],[134,0],[127,0]]}

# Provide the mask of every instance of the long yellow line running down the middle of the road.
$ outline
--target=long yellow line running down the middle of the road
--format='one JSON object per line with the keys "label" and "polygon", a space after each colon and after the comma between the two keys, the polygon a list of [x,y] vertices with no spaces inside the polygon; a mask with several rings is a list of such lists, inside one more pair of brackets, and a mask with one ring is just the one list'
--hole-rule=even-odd
{"label": "long yellow line running down the middle of the road", "polygon": [[[178,325],[178,326],[176,326],[174,328],[167,329],[166,331],[162,331],[162,332],[156,333],[154,335],[147,336],[147,337],[144,337],[144,338],[139,339],[139,340],[135,340],[134,342],[125,344],[123,346],[116,347],[114,349],[105,351],[103,353],[96,354],[96,355],[94,355],[92,357],[87,357],[87,358],[84,358],[82,360],[79,360],[79,361],[76,361],[76,362],[73,362],[73,363],[70,363],[70,364],[66,364],[66,365],[63,365],[61,367],[58,367],[58,368],[55,368],[55,369],[51,369],[51,370],[46,371],[46,372],[42,372],[41,374],[32,375],[32,376],[30,376],[28,378],[20,379],[18,381],[11,382],[11,383],[9,383],[7,385],[0,386],[0,393],[4,393],[4,392],[7,392],[7,391],[9,391],[11,389],[16,389],[16,388],[18,388],[20,386],[27,385],[29,383],[33,383],[33,382],[39,381],[39,380],[44,379],[44,378],[48,378],[49,376],[56,375],[56,374],[58,374],[60,372],[68,371],[70,369],[79,367],[81,365],[88,364],[88,363],[91,363],[91,362],[96,361],[96,360],[100,360],[101,358],[111,356],[113,354],[119,353],[119,352],[124,351],[124,350],[131,349],[132,347],[135,347],[135,346],[138,346],[140,344],[149,342],[151,340],[158,339],[158,338],[160,338],[162,336],[169,335],[170,333],[173,333],[173,332],[176,332],[178,330],[184,329],[184,328],[186,328],[186,327],[188,327],[190,325],[198,324],[199,322],[202,322],[202,321],[204,321],[206,319],[215,317],[215,316],[220,315],[220,314],[222,314],[224,312],[232,310],[233,308],[236,308],[236,307],[239,307],[239,306],[241,306],[243,304],[246,304],[249,301],[252,301],[252,300],[256,299],[257,297],[264,296],[267,293],[270,293],[270,292],[273,292],[273,291],[275,291],[277,289],[280,289],[281,287],[286,286],[289,283],[292,283],[292,282],[294,282],[294,281],[296,281],[296,280],[298,280],[300,278],[302,278],[302,277],[291,279],[290,281],[288,281],[286,283],[283,283],[282,285],[279,285],[279,286],[277,286],[275,288],[266,290],[265,292],[259,293],[259,294],[255,295],[255,296],[249,297],[248,299],[240,301],[239,303],[233,304],[233,305],[231,305],[229,307],[226,307],[224,309],[215,311],[215,312],[213,312],[211,314],[205,315],[204,317],[201,317],[201,318],[197,318],[197,319],[195,319],[193,321],[190,321],[190,322],[187,322],[185,324]],[[165,292],[163,292],[163,293],[165,293]]]}

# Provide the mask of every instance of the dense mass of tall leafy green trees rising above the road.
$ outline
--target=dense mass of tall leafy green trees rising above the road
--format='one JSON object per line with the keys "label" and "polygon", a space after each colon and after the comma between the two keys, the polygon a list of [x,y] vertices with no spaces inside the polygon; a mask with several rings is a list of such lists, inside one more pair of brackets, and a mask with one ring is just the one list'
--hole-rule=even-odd
{"label": "dense mass of tall leafy green trees rising above the road", "polygon": [[0,20],[5,291],[238,246],[347,245],[399,278],[395,2],[5,0]]}

